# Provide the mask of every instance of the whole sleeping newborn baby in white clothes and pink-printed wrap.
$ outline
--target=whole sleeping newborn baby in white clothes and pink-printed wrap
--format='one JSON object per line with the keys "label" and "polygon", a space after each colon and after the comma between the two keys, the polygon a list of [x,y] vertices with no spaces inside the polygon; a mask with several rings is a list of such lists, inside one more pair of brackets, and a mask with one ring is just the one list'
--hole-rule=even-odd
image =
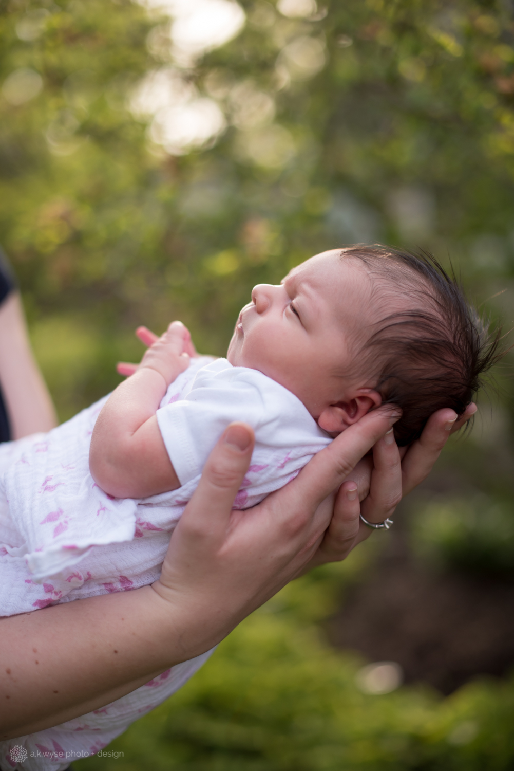
{"label": "whole sleeping newborn baby in white clothes and pink-printed wrap", "polygon": [[[0,614],[156,581],[203,463],[233,420],[256,435],[234,502],[245,509],[384,402],[403,411],[400,444],[436,409],[461,414],[495,360],[496,342],[487,345],[455,281],[432,258],[385,247],[327,251],[278,286],[259,284],[227,359],[193,356],[174,322],[111,396],[0,449]],[[23,768],[39,771],[97,752],[210,652],[103,709],[0,742],[0,765],[15,766],[15,744],[29,753]]]}

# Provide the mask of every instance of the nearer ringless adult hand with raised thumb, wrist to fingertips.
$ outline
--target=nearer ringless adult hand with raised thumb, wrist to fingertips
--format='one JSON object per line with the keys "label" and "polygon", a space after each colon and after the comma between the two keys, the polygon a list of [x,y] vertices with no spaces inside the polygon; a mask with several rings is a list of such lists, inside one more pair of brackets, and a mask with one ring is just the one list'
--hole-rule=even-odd
{"label": "nearer ringless adult hand with raised thumb, wrist to fingertips", "polygon": [[[254,437],[244,423],[227,428],[153,584],[176,618],[182,608],[178,634],[188,656],[215,645],[304,571],[330,525],[332,491],[398,416],[391,406],[369,412],[317,453],[295,480],[246,511],[230,510],[229,501],[250,463]],[[184,608],[189,608],[185,618]]]}

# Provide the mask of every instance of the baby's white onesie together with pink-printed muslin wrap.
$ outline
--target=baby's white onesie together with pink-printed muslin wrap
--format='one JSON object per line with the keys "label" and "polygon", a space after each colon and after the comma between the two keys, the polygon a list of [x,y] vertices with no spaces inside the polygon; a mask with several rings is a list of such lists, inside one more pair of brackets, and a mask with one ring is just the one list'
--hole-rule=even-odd
{"label": "baby's white onesie together with pink-printed muslin wrap", "polygon": [[[107,398],[47,434],[0,446],[0,616],[156,581],[207,456],[233,420],[249,423],[256,437],[238,509],[283,487],[331,442],[282,385],[226,359],[200,357],[170,385],[157,411],[181,487],[138,500],[113,498],[89,474],[92,429]],[[211,652],[102,709],[0,742],[0,766],[16,767],[15,746],[28,754],[18,766],[27,771],[61,771],[73,758],[95,754],[180,688]]]}

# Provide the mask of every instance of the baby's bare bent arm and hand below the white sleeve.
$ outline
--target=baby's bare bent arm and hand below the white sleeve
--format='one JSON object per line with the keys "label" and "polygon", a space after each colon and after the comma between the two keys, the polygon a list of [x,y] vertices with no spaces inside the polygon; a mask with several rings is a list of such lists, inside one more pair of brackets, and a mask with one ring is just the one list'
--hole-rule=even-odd
{"label": "baby's bare bent arm and hand below the white sleeve", "polygon": [[156,411],[168,385],[189,365],[184,352],[189,339],[181,322],[170,324],[100,412],[91,437],[89,470],[109,495],[144,498],[180,487]]}

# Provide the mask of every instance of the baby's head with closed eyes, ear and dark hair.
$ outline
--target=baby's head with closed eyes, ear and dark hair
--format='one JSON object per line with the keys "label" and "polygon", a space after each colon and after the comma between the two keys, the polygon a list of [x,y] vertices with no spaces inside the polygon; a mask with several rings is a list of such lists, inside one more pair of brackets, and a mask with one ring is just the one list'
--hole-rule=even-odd
{"label": "baby's head with closed eyes, ear and dark hair", "polygon": [[333,436],[393,402],[408,444],[435,410],[464,412],[497,348],[433,258],[355,246],[254,287],[227,359],[284,385]]}

